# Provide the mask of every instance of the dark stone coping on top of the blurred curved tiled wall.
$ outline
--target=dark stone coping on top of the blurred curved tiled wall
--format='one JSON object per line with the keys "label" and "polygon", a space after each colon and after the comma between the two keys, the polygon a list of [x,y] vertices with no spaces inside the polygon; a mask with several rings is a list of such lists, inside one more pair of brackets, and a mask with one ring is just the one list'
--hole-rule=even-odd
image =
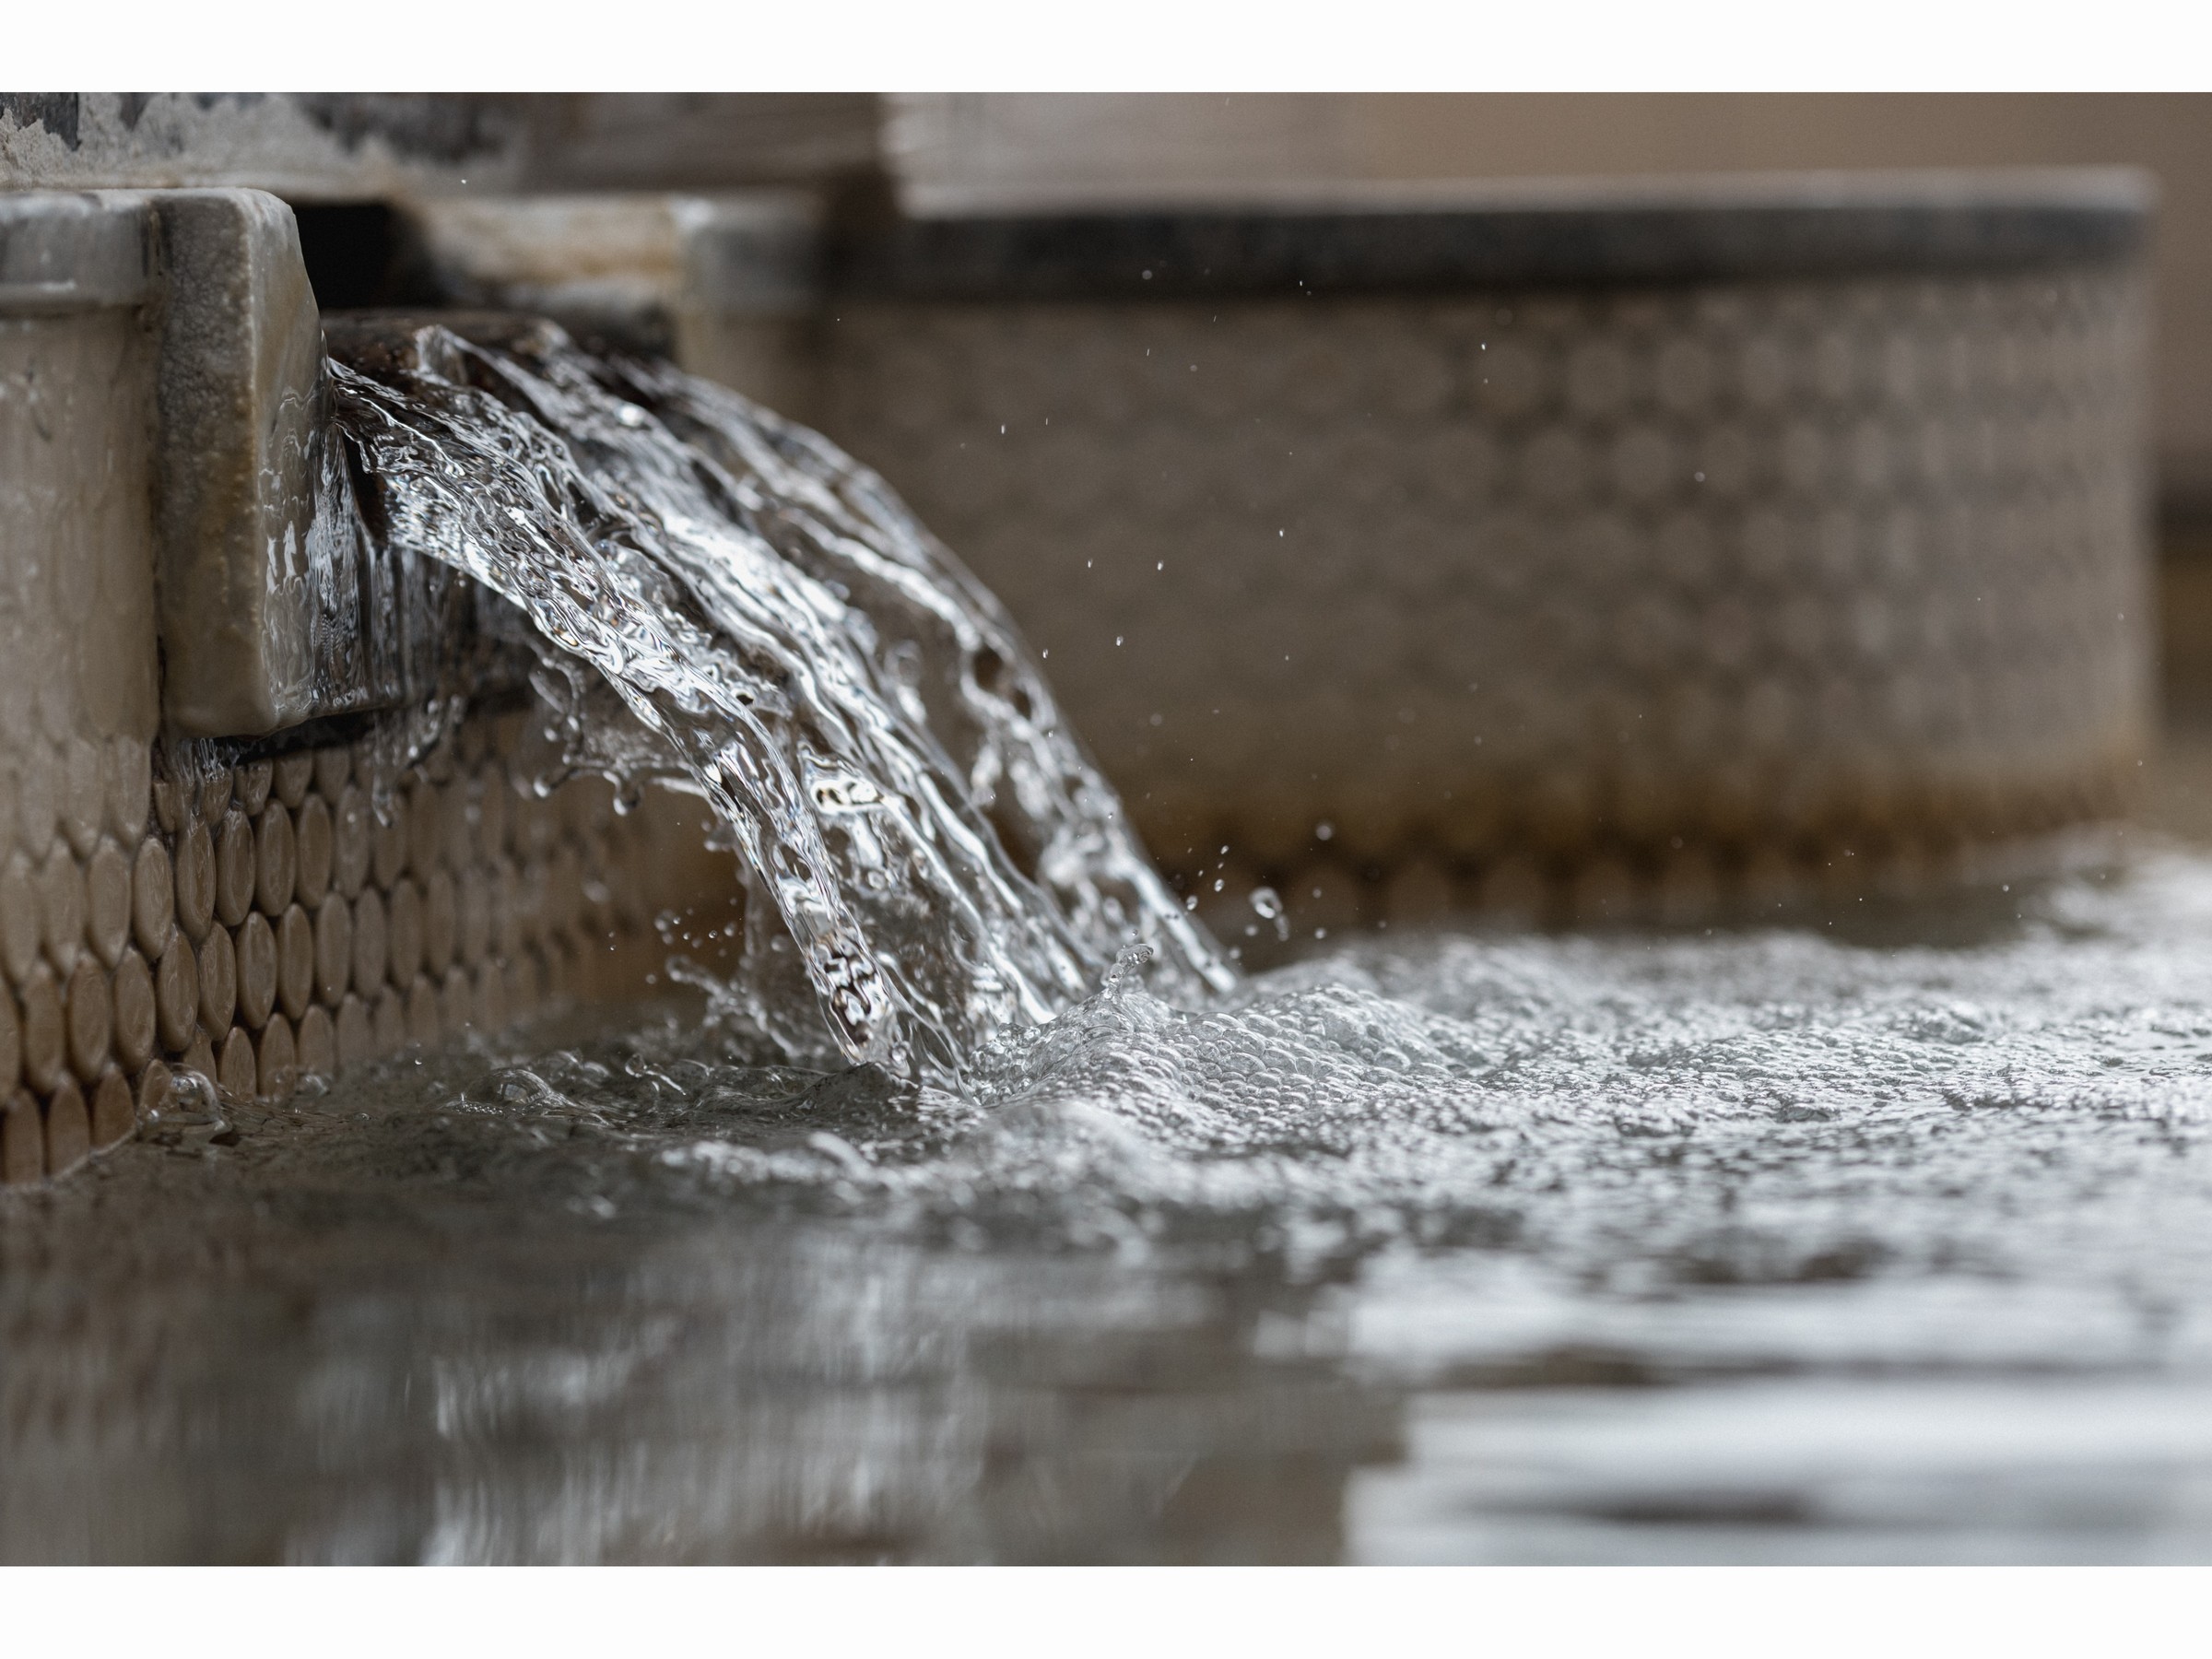
{"label": "dark stone coping on top of the blurred curved tiled wall", "polygon": [[2146,246],[2152,188],[2139,173],[2079,168],[916,206],[834,239],[832,296],[1296,296],[2101,265]]}

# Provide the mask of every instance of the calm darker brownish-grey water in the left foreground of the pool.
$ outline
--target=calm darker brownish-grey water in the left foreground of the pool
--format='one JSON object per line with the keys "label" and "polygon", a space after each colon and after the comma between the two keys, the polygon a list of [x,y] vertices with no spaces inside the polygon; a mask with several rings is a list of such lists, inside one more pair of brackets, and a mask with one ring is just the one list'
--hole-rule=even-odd
{"label": "calm darker brownish-grey water in the left foreground of the pool", "polygon": [[617,1206],[438,1093],[7,1206],[0,1555],[1314,1562],[1391,1451],[1312,1287],[1234,1243]]}

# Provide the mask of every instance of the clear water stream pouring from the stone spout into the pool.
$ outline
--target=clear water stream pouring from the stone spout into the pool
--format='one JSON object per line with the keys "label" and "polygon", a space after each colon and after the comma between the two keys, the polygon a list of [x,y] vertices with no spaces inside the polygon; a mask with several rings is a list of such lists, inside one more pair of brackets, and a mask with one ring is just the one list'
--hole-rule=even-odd
{"label": "clear water stream pouring from the stone spout into the pool", "polygon": [[[792,1057],[960,1077],[1124,949],[1170,998],[1234,982],[1004,611],[874,473],[553,325],[367,338],[330,365],[367,535],[529,617],[575,750],[714,805],[765,898],[741,1006]],[[591,670],[657,743],[613,737]]]}

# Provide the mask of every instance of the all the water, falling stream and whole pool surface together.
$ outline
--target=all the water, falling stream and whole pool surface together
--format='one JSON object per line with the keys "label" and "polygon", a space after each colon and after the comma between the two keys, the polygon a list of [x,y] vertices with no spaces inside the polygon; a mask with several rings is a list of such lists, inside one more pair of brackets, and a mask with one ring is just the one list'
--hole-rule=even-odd
{"label": "all the water, falling stream and whole pool surface together", "polygon": [[0,1557],[2212,1557],[2212,854],[1234,980],[821,440],[336,389],[759,960],[0,1203]]}

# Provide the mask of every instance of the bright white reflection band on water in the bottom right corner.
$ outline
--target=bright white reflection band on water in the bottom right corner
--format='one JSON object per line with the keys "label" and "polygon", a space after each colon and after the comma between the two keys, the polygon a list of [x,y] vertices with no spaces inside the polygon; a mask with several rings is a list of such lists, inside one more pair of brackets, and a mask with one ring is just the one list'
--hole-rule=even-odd
{"label": "bright white reflection band on water in the bottom right corner", "polygon": [[1378,1562],[2203,1562],[2208,1407],[2201,1378],[1440,1394],[1349,1533]]}

